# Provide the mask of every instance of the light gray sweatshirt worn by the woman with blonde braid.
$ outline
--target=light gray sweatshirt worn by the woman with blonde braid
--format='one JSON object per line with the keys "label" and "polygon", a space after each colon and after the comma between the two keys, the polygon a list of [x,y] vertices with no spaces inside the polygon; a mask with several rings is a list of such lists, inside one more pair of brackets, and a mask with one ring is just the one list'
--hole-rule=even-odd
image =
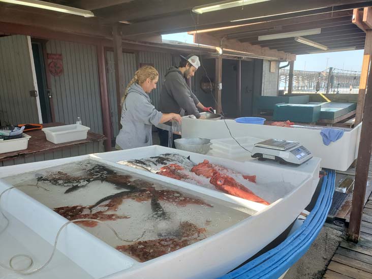
{"label": "light gray sweatshirt worn by the woman with blonde braid", "polygon": [[152,145],[151,126],[158,125],[163,113],[152,105],[142,87],[134,83],[129,87],[121,110],[121,126],[116,144],[121,149]]}

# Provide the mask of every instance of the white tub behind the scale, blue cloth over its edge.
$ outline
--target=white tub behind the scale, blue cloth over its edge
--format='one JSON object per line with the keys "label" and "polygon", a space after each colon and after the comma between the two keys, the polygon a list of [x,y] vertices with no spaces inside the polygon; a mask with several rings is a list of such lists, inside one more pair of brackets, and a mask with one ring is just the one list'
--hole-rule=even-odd
{"label": "white tub behind the scale, blue cloth over its edge", "polygon": [[[236,123],[235,120],[231,119],[227,119],[226,124],[235,138],[249,136],[264,140],[277,138],[298,141],[310,150],[313,156],[322,159],[321,167],[323,168],[346,171],[358,157],[362,123],[359,123],[359,125],[351,131],[345,131],[342,138],[335,142],[331,142],[328,146],[323,144],[320,130],[316,129]],[[226,124],[224,120],[207,121],[183,117],[182,137],[200,137],[211,140],[231,138]],[[216,131],[218,131],[218,133],[216,133]],[[247,156],[247,160],[250,160],[249,155]]]}

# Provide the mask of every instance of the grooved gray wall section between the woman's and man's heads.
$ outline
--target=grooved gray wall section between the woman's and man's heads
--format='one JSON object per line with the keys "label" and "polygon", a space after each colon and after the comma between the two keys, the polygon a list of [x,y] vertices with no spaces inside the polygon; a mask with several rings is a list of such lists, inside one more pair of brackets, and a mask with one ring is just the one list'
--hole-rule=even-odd
{"label": "grooved gray wall section between the woman's and man's heads", "polygon": [[159,53],[159,52],[139,52],[140,64],[151,64],[159,72],[159,82],[157,88],[152,90],[150,93],[150,99],[156,109],[159,109],[160,92],[162,90],[163,80],[167,69],[173,65],[172,55],[170,53]]}

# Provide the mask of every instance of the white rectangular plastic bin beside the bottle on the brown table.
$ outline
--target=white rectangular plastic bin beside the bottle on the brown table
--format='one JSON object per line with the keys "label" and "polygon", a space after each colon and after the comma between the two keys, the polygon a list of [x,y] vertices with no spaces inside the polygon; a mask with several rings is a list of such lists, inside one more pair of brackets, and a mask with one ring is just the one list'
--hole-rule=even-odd
{"label": "white rectangular plastic bin beside the bottle on the brown table", "polygon": [[41,129],[48,141],[58,144],[63,142],[86,139],[89,127],[79,124],[64,125]]}

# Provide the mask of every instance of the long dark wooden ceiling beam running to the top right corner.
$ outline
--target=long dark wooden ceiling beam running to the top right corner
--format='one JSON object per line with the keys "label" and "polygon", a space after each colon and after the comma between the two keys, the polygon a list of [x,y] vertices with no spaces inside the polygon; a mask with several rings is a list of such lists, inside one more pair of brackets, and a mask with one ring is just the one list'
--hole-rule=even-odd
{"label": "long dark wooden ceiling beam running to the top right corner", "polygon": [[[178,3],[178,2],[177,2]],[[332,11],[333,6],[347,5],[352,9],[355,6],[359,7],[363,3],[370,3],[369,1],[354,0],[312,0],[312,1],[298,1],[298,0],[272,0],[270,2],[261,2],[249,5],[249,8],[241,9],[241,7],[230,8],[215,12],[209,12],[201,15],[191,14],[190,10],[181,12],[179,14],[170,14],[169,16],[162,16],[159,18],[133,23],[122,28],[124,35],[139,35],[148,33],[162,33],[173,32],[177,29],[188,27],[189,30],[195,30],[195,25],[198,29],[202,26],[230,22],[232,20],[269,17],[279,14],[290,14],[306,10],[314,10],[329,7],[328,11]],[[316,11],[314,11],[314,14]],[[264,20],[264,19],[262,19]],[[172,24],[169,24],[172,22]]]}

